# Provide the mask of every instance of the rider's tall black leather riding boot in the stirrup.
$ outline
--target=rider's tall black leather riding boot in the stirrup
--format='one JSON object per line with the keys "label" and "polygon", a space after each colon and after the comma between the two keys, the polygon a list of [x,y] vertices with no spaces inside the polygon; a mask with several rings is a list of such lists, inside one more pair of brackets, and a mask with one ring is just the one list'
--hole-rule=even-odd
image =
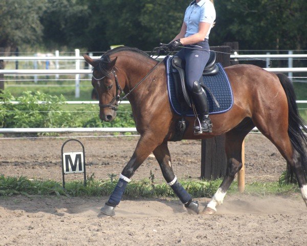
{"label": "rider's tall black leather riding boot in the stirrup", "polygon": [[199,81],[194,81],[192,88],[192,98],[195,103],[197,112],[201,115],[201,129],[199,125],[194,126],[194,134],[203,132],[212,132],[212,122],[209,118],[209,107],[206,93],[203,91]]}

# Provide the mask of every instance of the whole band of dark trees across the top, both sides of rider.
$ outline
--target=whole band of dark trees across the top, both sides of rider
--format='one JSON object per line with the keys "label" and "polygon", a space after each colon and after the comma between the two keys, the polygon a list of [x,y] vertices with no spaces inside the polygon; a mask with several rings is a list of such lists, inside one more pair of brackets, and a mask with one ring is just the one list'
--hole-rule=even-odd
{"label": "whole band of dark trees across the top, both sides of rider", "polygon": [[[35,42],[58,49],[79,46],[103,51],[126,45],[151,50],[179,33],[188,4],[184,0],[3,0],[0,47]],[[219,0],[215,9],[211,45],[238,41],[240,49],[307,49],[305,0]]]}

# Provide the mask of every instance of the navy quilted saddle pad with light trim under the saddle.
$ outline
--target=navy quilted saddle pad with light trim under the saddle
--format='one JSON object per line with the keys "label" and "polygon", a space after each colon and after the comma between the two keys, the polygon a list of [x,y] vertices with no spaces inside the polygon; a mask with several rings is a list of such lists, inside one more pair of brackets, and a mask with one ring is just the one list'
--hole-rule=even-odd
{"label": "navy quilted saddle pad with light trim under the saddle", "polygon": [[[172,57],[168,56],[165,59],[165,67],[166,67],[166,77],[167,77],[167,90],[168,90],[168,98],[172,109],[179,115],[182,114],[180,103],[176,98],[176,89],[174,86],[174,80],[171,72],[174,71],[171,66]],[[215,96],[218,104],[220,104],[220,108],[216,106],[214,100],[208,91],[206,91],[207,99],[209,103],[209,114],[221,114],[225,113],[231,109],[233,105],[233,95],[231,86],[229,83],[229,79],[227,74],[224,71],[223,66],[220,63],[216,64],[220,71],[213,76],[203,76],[204,84],[211,90],[213,95]],[[181,85],[180,85],[181,86]],[[185,112],[186,116],[194,116],[193,110],[189,108],[187,112]]]}

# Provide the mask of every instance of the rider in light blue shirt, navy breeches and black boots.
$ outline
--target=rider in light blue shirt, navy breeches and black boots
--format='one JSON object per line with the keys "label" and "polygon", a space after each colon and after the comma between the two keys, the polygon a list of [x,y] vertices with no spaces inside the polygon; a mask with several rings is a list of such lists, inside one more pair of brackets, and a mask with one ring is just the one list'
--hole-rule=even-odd
{"label": "rider in light blue shirt, navy breeches and black boots", "polygon": [[212,132],[207,97],[200,86],[200,79],[210,55],[208,38],[214,20],[213,0],[194,0],[186,9],[180,33],[164,47],[167,51],[177,50],[181,46],[195,48],[183,48],[175,55],[185,60],[187,88],[201,115],[201,129],[194,126],[194,134]]}

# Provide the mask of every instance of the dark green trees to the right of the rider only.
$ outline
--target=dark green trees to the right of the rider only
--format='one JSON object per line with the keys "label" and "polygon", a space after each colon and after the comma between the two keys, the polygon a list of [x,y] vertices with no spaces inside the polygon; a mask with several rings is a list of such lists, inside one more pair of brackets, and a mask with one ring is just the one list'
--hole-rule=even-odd
{"label": "dark green trees to the right of the rider only", "polygon": [[240,49],[306,49],[305,0],[215,2],[213,43],[237,40]]}

